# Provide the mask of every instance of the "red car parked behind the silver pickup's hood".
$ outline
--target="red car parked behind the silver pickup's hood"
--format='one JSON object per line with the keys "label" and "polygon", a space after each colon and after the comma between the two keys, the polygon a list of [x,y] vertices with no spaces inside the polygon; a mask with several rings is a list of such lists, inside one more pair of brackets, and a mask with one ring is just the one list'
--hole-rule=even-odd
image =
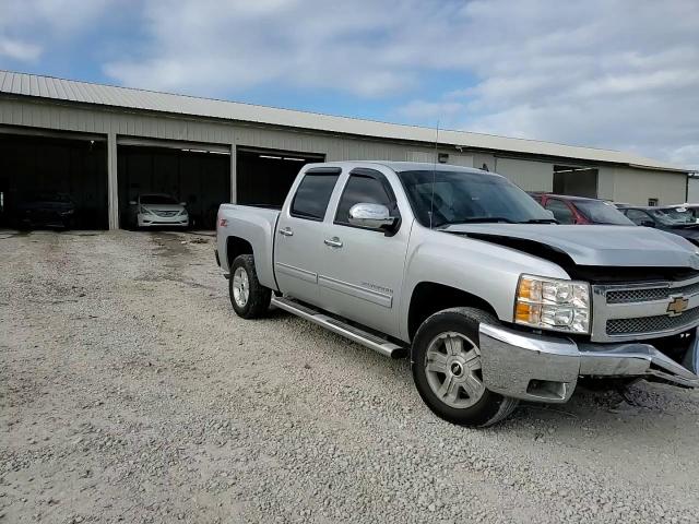
{"label": "red car parked behind the silver pickup's hood", "polygon": [[550,211],[559,224],[633,225],[611,202],[565,194],[530,194],[544,209]]}

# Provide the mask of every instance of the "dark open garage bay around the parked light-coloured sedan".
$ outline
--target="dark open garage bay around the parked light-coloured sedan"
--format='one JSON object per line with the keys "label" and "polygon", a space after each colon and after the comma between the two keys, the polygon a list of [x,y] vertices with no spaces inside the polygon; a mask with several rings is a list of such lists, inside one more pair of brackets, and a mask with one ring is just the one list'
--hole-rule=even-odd
{"label": "dark open garage bay around the parked light-coloured sedan", "polygon": [[[119,223],[134,228],[140,195],[182,202],[189,227],[214,229],[216,213],[230,201],[230,152],[222,147],[117,145]],[[157,199],[156,199],[157,200]]]}

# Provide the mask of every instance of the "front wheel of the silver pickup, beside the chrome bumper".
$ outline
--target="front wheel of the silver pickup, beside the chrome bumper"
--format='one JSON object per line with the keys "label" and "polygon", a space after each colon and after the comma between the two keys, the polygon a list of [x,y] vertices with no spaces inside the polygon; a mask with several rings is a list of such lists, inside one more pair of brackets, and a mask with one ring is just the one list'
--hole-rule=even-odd
{"label": "front wheel of the silver pickup, beside the chrome bumper", "polygon": [[481,322],[497,320],[475,308],[445,309],[423,322],[413,341],[411,368],[419,396],[435,415],[459,426],[491,426],[519,403],[483,385]]}

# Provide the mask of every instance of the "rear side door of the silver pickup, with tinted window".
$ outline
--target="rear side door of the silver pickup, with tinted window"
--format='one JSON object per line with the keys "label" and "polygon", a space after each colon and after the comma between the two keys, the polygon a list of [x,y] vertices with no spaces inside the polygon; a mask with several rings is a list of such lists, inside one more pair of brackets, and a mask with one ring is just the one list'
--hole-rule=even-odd
{"label": "rear side door of the silver pickup, with tinted window", "polygon": [[323,245],[323,219],[340,177],[340,168],[308,169],[292,188],[293,196],[280,215],[274,239],[274,274],[285,295],[318,305],[318,272]]}

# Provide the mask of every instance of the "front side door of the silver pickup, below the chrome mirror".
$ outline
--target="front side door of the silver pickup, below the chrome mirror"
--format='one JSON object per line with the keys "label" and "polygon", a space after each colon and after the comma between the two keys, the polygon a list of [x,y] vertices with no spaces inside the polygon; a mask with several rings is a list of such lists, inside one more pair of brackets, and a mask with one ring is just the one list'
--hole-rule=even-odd
{"label": "front side door of the silver pickup, below the chrome mirror", "polygon": [[321,307],[383,333],[398,335],[398,307],[403,284],[410,224],[387,236],[383,230],[350,224],[350,209],[358,203],[386,205],[391,216],[407,216],[399,209],[387,177],[375,169],[353,169],[334,214],[327,219],[321,270]]}

